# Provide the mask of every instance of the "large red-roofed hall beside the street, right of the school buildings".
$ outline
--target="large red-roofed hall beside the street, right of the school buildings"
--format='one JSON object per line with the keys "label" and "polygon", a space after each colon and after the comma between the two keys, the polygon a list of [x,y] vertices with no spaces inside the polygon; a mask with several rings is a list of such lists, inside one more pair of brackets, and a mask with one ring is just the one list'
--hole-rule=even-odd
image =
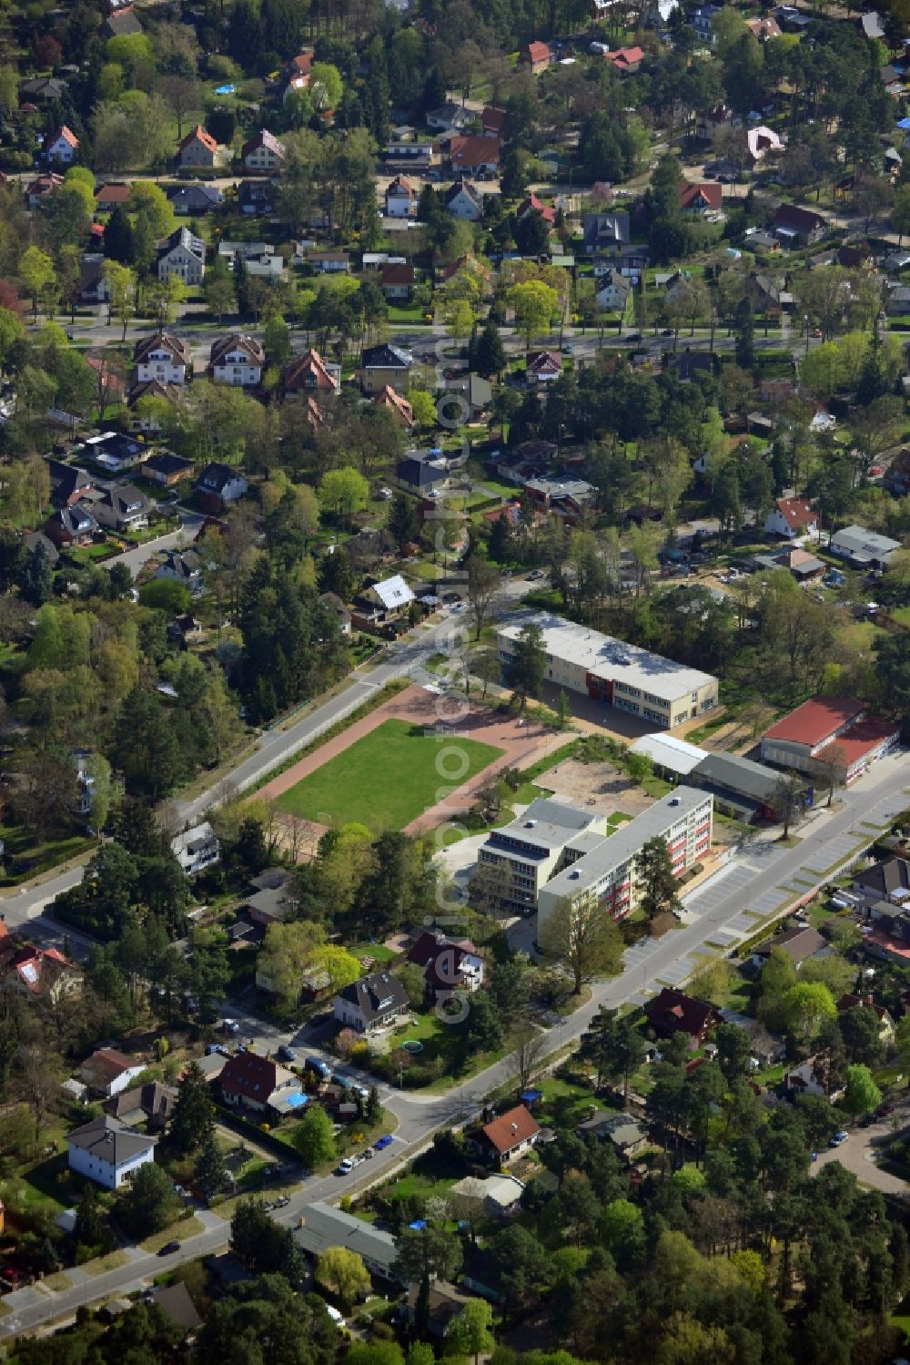
{"label": "large red-roofed hall beside the street, right of the school buildings", "polygon": [[801,773],[834,763],[850,784],[888,753],[899,738],[899,722],[868,717],[865,702],[816,696],[765,730],[761,758]]}

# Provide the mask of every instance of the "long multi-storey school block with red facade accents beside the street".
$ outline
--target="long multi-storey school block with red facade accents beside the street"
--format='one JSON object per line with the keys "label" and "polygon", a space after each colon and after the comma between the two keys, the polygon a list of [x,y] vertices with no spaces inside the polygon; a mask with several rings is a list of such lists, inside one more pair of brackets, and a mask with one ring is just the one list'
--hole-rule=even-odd
{"label": "long multi-storey school block with red facade accents beside the street", "polygon": [[714,797],[692,786],[674,792],[621,824],[596,844],[588,835],[566,848],[566,864],[550,878],[538,895],[538,934],[557,906],[565,901],[573,912],[606,902],[615,919],[622,919],[639,902],[636,859],[655,838],[664,839],[673,871],[681,876],[711,848]]}

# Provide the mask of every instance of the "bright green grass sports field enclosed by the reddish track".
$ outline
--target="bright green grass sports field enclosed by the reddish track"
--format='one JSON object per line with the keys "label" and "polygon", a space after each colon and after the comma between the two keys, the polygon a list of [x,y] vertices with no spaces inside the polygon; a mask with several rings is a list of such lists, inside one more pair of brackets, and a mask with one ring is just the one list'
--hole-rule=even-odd
{"label": "bright green grass sports field enclosed by the reddish track", "polygon": [[476,740],[441,745],[419,725],[383,721],[277,804],[289,815],[321,823],[353,820],[371,830],[400,830],[434,805],[441,789],[467,782],[501,753]]}

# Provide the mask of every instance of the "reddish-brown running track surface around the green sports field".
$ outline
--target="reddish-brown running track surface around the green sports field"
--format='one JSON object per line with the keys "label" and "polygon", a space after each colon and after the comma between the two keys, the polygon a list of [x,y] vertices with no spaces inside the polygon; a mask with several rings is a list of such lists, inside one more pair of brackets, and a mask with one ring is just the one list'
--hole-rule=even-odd
{"label": "reddish-brown running track surface around the green sports field", "polygon": [[[441,800],[405,826],[405,834],[422,834],[437,824],[442,824],[445,820],[464,815],[473,804],[476,793],[487,786],[490,779],[502,768],[529,767],[563,743],[562,736],[555,734],[553,730],[536,725],[533,721],[514,719],[490,711],[479,700],[472,699],[465,714],[460,714],[461,710],[463,707],[453,706],[446,698],[427,692],[420,687],[409,687],[405,692],[400,692],[398,696],[392,698],[383,706],[371,711],[370,715],[364,715],[360,721],[356,721],[342,734],[336,736],[312,753],[302,758],[287,773],[281,773],[271,782],[266,784],[258,794],[266,800],[281,796],[387,719],[411,721],[412,723],[424,725],[427,729],[438,729],[439,734],[453,744],[457,744],[458,736],[463,736],[464,738],[478,740],[480,744],[491,744],[494,748],[502,749],[501,758],[494,759],[493,763],[468,782],[456,788],[446,788],[441,781]],[[327,826],[312,820],[297,820],[288,815],[282,815],[281,822],[289,830],[292,826],[303,826],[303,830],[297,831],[300,844],[297,856],[300,859],[312,857],[315,842],[326,831]]]}

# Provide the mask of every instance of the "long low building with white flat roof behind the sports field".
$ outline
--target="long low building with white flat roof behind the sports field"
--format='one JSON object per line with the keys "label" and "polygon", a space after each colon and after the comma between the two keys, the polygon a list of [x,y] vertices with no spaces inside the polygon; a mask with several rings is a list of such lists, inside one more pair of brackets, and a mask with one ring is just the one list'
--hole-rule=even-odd
{"label": "long low building with white flat roof behind the sports field", "polygon": [[585,625],[547,612],[517,616],[497,632],[497,648],[509,666],[523,627],[539,625],[547,651],[546,680],[604,706],[671,729],[718,704],[718,680]]}

